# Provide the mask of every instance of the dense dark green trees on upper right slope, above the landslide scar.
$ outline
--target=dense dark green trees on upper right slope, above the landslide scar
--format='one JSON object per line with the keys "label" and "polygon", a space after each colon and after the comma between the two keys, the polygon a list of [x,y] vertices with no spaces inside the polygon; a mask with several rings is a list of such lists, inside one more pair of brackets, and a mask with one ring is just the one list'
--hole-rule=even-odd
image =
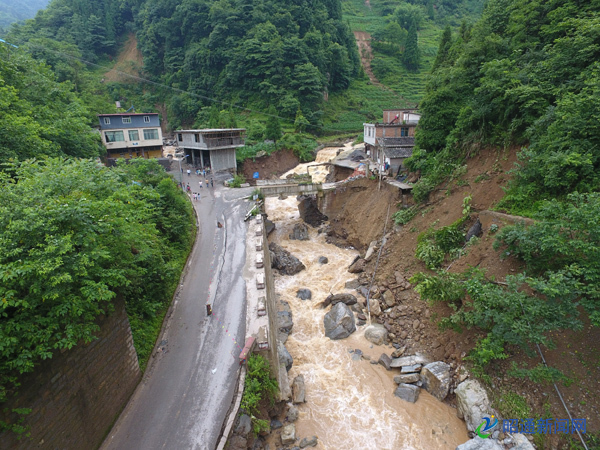
{"label": "dense dark green trees on upper right slope, above the landslide scar", "polygon": [[[420,105],[413,168],[476,145],[520,144],[522,170],[504,206],[600,187],[600,4],[492,0],[440,54]],[[427,170],[426,170],[427,171]]]}

